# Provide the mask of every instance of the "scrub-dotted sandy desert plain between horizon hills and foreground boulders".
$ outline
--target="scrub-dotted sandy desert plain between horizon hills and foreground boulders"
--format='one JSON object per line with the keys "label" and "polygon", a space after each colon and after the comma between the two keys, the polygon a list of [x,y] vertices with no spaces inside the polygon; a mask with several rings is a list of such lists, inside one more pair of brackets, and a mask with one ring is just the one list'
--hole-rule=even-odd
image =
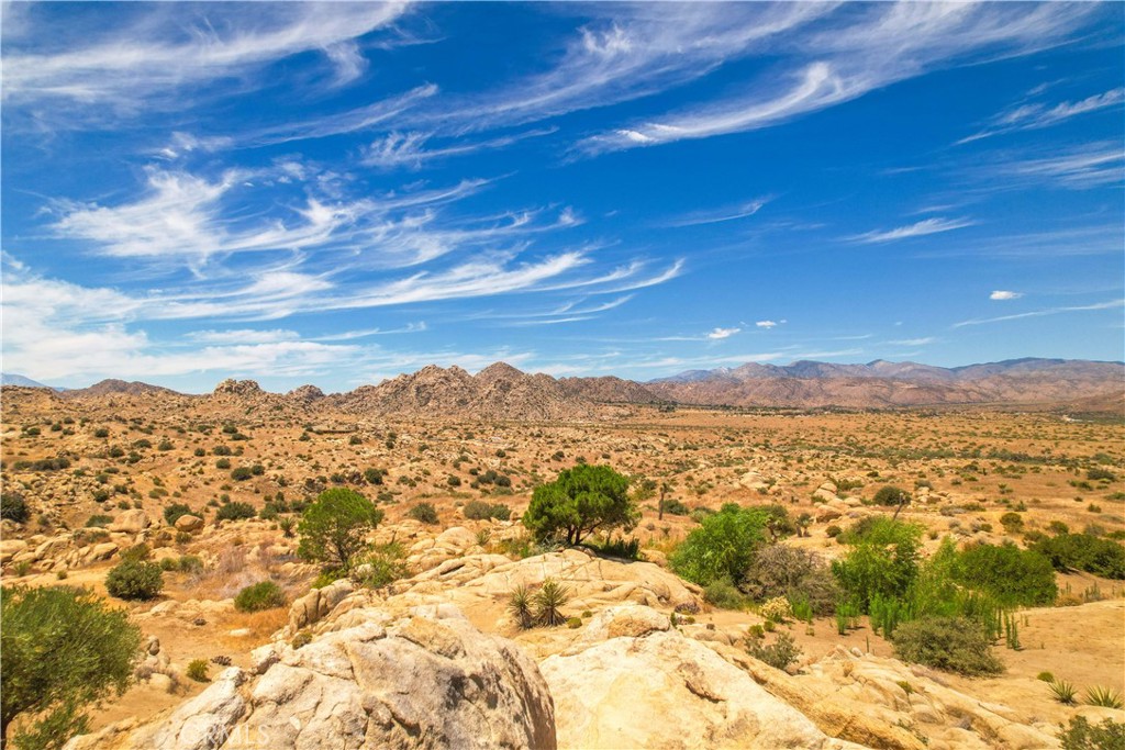
{"label": "scrub-dotted sandy desert plain between horizon hills and foreground boulders", "polygon": [[[89,730],[159,717],[274,635],[296,653],[346,599],[452,603],[540,660],[658,625],[780,670],[765,684],[798,710],[788,690],[878,668],[911,705],[989,696],[1073,747],[1117,731],[1081,712],[1119,712],[1125,689],[1122,424],[649,406],[583,424],[368,421],[246,392],[4,390],[6,596],[86,588],[143,634],[106,683],[127,693],[99,693]],[[26,428],[63,419],[107,437]],[[614,620],[622,606],[639,609]],[[12,733],[38,731],[28,711],[46,715],[12,714]],[[927,731],[961,731],[942,721]]]}

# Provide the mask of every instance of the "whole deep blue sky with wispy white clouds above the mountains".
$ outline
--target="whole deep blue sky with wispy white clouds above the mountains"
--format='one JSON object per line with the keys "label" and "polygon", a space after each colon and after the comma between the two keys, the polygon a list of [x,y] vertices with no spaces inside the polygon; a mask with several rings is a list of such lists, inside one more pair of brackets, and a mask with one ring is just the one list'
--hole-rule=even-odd
{"label": "whole deep blue sky with wispy white clouds above the mountains", "polygon": [[1125,359],[1120,3],[2,12],[7,372]]}

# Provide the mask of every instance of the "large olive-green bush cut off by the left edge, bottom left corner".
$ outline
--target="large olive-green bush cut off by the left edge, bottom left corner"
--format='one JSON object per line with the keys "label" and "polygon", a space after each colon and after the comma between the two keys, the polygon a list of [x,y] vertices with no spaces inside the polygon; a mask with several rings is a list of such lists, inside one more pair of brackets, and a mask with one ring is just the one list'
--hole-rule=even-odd
{"label": "large olive-green bush cut off by the left edge, bottom left corner", "polygon": [[19,748],[61,748],[87,731],[87,706],[133,678],[141,631],[90,591],[4,586],[0,621],[0,732]]}

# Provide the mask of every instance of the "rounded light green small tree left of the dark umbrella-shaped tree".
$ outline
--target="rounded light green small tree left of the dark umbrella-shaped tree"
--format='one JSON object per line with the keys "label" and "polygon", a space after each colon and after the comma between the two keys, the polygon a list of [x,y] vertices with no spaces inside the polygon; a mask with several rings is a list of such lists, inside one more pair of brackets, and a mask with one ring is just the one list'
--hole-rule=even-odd
{"label": "rounded light green small tree left of the dark umbrella-shaped tree", "polygon": [[302,516],[297,554],[349,570],[367,550],[367,534],[382,521],[379,510],[359,493],[342,487],[326,489]]}

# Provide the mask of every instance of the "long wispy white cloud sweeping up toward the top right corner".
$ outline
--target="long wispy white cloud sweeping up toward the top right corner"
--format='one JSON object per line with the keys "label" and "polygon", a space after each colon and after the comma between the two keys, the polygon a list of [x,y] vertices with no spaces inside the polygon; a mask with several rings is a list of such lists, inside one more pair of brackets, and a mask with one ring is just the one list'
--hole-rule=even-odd
{"label": "long wispy white cloud sweeping up toward the top right corner", "polygon": [[932,70],[1043,49],[1096,15],[1071,4],[1028,10],[893,2],[847,10],[790,29],[771,49],[783,62],[742,93],[593,135],[577,144],[577,152],[594,155],[771,127]]}

